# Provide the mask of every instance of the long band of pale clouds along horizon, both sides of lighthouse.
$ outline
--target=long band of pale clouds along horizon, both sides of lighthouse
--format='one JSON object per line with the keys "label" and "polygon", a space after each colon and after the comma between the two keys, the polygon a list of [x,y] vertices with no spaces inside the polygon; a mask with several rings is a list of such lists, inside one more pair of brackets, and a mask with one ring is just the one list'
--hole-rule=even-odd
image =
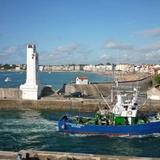
{"label": "long band of pale clouds along horizon, both sides of lighthouse", "polygon": [[[99,51],[82,44],[60,45],[50,51],[39,51],[40,64],[93,63],[160,63],[160,42],[137,47],[108,41]],[[26,63],[26,44],[0,49],[0,63]]]}

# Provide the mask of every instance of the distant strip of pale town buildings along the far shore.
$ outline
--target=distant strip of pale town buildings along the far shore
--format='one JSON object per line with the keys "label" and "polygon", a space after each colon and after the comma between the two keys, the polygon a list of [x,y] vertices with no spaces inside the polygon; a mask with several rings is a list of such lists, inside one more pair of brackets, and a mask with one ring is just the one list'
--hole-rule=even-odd
{"label": "distant strip of pale town buildings along the far shore", "polygon": [[[26,64],[0,64],[0,71],[25,71]],[[120,64],[69,64],[69,65],[39,65],[39,71],[60,72],[60,71],[84,71],[110,74],[113,71],[123,73],[149,73],[150,75],[160,74],[160,64],[134,65],[128,63]]]}

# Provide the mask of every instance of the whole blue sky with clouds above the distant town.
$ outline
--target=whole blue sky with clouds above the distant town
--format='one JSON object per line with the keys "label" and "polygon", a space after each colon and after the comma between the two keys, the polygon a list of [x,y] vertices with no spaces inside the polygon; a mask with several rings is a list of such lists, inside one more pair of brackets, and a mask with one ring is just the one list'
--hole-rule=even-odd
{"label": "whole blue sky with clouds above the distant town", "polygon": [[0,0],[0,64],[160,63],[160,0]]}

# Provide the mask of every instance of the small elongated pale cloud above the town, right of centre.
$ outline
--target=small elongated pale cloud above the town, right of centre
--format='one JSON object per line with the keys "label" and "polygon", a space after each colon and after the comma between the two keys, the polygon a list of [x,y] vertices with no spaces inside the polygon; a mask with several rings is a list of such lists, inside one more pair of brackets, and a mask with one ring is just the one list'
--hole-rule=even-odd
{"label": "small elongated pale cloud above the town, right of centre", "polygon": [[117,50],[131,50],[131,49],[133,49],[133,46],[131,46],[129,44],[119,43],[119,42],[116,42],[116,41],[108,41],[104,45],[104,48],[117,49]]}

